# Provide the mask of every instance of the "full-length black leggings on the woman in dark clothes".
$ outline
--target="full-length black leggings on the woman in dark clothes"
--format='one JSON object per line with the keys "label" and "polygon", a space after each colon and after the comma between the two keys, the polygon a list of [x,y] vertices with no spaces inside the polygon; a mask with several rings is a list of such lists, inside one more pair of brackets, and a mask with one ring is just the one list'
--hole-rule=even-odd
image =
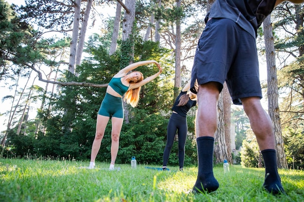
{"label": "full-length black leggings on the woman in dark clothes", "polygon": [[167,144],[164,150],[163,166],[167,166],[173,141],[177,130],[178,135],[178,160],[180,168],[184,167],[185,144],[187,138],[187,119],[176,113],[172,113],[167,127]]}

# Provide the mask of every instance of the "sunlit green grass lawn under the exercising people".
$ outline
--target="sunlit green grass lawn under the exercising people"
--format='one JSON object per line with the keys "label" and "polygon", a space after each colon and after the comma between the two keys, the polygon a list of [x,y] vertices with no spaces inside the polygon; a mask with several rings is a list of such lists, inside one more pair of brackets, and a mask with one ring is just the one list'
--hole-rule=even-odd
{"label": "sunlit green grass lawn under the exercising people", "polygon": [[[197,168],[169,167],[170,171],[138,165],[56,160],[0,159],[0,202],[304,202],[304,171],[279,170],[287,195],[263,190],[264,169],[230,166],[214,168],[220,188],[210,194],[192,194]],[[155,166],[150,166],[155,167]],[[159,166],[161,167],[161,166]]]}

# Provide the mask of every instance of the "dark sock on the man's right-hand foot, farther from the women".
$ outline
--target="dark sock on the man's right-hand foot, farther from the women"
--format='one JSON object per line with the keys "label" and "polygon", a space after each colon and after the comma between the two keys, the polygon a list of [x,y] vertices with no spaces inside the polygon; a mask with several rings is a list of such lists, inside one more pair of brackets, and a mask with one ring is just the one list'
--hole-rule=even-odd
{"label": "dark sock on the man's right-hand foot, farther from the women", "polygon": [[276,151],[266,149],[261,151],[265,164],[265,181],[263,187],[273,195],[285,194],[277,169]]}

